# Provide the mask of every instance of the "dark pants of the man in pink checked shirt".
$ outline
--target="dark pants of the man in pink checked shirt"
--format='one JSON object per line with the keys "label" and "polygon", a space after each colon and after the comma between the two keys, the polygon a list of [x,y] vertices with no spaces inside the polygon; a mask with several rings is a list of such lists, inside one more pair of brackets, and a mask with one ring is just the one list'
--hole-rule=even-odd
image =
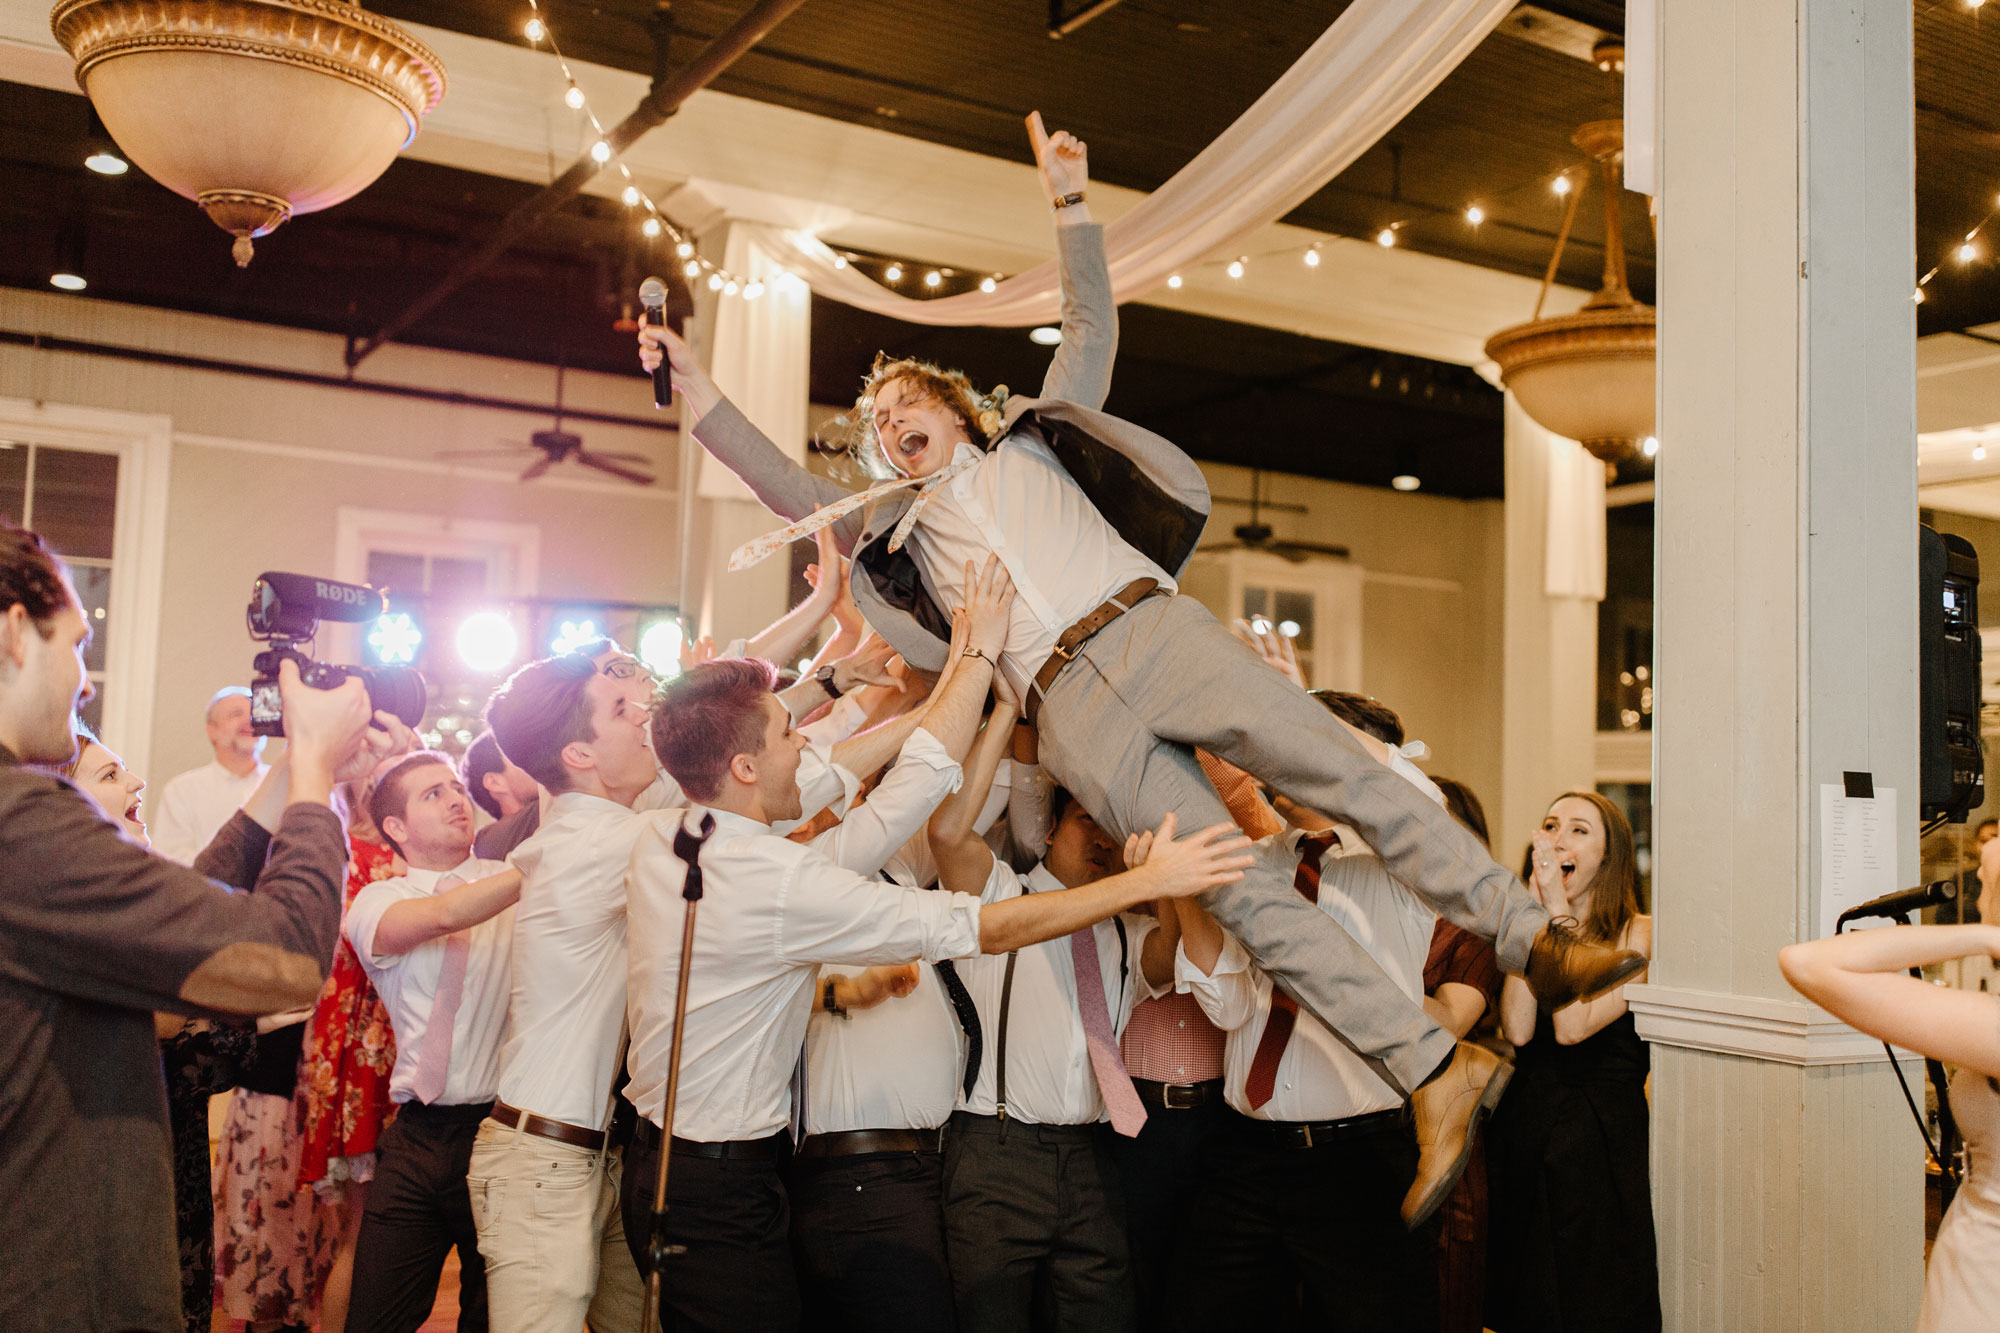
{"label": "dark pants of the man in pink checked shirt", "polygon": [[1166,1327],[1166,1285],[1172,1273],[1188,1205],[1200,1183],[1202,1147],[1234,1111],[1222,1101],[1222,1081],[1200,1107],[1146,1105],[1146,1127],[1136,1137],[1110,1137],[1112,1161],[1126,1195],[1126,1235],[1132,1241],[1132,1279],[1138,1289],[1138,1327]]}

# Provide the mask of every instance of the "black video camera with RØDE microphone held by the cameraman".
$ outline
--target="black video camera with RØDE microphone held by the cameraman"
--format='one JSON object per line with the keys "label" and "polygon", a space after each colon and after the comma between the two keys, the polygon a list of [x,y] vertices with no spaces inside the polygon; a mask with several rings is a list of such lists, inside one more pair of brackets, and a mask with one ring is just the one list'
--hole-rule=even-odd
{"label": "black video camera with R\u00d8DE microphone held by the cameraman", "polygon": [[334,666],[312,660],[312,638],[320,620],[374,620],[384,598],[360,582],[336,582],[312,574],[280,574],[266,570],[250,588],[250,608],[244,620],[250,638],[270,648],[252,662],[250,731],[260,737],[284,735],[284,701],[278,697],[278,664],[296,662],[298,679],[316,691],[338,689],[348,677],[360,677],[368,687],[370,711],[392,713],[408,727],[424,721],[430,689],[414,666]]}

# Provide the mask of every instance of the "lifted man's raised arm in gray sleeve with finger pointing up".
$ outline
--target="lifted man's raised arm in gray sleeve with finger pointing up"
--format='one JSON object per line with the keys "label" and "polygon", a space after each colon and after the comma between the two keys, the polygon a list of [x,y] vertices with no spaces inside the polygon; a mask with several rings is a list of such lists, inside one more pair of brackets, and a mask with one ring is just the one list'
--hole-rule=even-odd
{"label": "lifted man's raised arm in gray sleeve with finger pointing up", "polygon": [[[1042,114],[1028,116],[1036,168],[1050,206],[1090,186],[1090,154],[1066,130],[1042,132]],[[1062,282],[1062,346],[1042,380],[1044,398],[1064,398],[1088,408],[1104,406],[1118,356],[1118,302],[1104,262],[1104,228],[1090,218],[1090,204],[1056,208],[1056,276]]]}

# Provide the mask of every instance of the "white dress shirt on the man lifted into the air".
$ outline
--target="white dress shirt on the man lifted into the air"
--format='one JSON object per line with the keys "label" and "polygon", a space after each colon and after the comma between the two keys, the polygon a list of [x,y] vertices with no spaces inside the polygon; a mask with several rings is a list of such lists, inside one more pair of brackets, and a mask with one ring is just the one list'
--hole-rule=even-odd
{"label": "white dress shirt on the man lifted into the air", "polygon": [[908,550],[940,606],[964,604],[966,560],[980,568],[1000,556],[1014,578],[1000,671],[1026,699],[1062,630],[1134,578],[1172,590],[1174,576],[1118,536],[1034,430],[1014,430],[992,452],[960,442],[952,458],[968,452],[978,462],[932,492]]}

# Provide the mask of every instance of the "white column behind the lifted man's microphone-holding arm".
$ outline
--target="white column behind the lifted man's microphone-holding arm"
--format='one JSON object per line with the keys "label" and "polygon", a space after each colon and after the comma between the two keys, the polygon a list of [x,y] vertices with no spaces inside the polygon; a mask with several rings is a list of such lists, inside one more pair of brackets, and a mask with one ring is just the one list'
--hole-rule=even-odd
{"label": "white column behind the lifted man's microphone-holding arm", "polygon": [[[728,220],[704,228],[704,246],[720,248],[722,266],[764,284],[756,298],[696,286],[702,328],[696,352],[710,376],[764,434],[794,458],[806,456],[810,396],[812,294],[784,274],[778,250],[762,240],[764,224]],[[716,244],[720,238],[720,246]],[[692,440],[690,440],[692,444]],[[700,446],[694,444],[698,450]],[[756,568],[730,572],[742,542],[784,522],[706,452],[696,468],[690,596],[684,614],[718,644],[754,634],[786,610],[790,560],[778,552]]]}

